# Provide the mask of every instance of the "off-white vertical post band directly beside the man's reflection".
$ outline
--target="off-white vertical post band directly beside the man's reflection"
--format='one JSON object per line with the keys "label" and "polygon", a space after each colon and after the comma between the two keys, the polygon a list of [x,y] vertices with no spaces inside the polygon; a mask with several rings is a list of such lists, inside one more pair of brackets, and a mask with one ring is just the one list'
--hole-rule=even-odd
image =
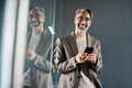
{"label": "off-white vertical post band directly beside the man's reflection", "polygon": [[22,88],[30,0],[19,0],[12,88]]}

